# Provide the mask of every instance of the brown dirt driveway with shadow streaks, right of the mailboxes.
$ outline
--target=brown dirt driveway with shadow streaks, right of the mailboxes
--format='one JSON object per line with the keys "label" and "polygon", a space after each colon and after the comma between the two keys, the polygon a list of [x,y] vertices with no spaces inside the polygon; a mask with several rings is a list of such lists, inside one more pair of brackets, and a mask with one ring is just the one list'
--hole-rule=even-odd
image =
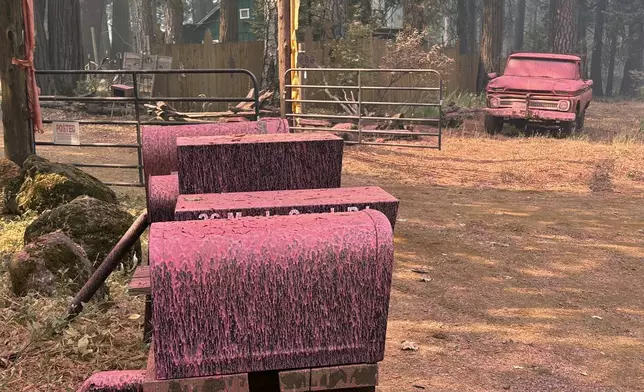
{"label": "brown dirt driveway with shadow streaks, right of the mailboxes", "polygon": [[385,188],[402,221],[383,390],[644,390],[644,200]]}

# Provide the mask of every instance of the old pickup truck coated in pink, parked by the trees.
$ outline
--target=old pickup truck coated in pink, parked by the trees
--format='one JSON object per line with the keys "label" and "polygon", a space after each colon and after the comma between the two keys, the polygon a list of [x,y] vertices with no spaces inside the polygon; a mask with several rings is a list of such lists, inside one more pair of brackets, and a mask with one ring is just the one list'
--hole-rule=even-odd
{"label": "old pickup truck coated in pink, parked by the trees", "polygon": [[558,126],[571,134],[584,126],[593,98],[592,80],[583,80],[581,58],[550,53],[515,53],[503,76],[489,74],[485,130],[494,134],[510,123]]}

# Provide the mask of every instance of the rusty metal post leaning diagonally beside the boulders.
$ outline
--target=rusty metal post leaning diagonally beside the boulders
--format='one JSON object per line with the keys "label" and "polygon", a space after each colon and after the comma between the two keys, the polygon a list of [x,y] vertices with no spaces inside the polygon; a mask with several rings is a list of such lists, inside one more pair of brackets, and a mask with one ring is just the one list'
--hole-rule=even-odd
{"label": "rusty metal post leaning diagonally beside the boulders", "polygon": [[141,234],[148,227],[148,213],[144,212],[125,232],[119,242],[112,248],[110,253],[105,257],[101,265],[98,266],[92,276],[85,282],[83,288],[74,297],[67,308],[67,319],[71,320],[83,311],[83,303],[89,302],[96,291],[105,283],[108,276],[116,269],[121,259],[127,251],[138,241]]}

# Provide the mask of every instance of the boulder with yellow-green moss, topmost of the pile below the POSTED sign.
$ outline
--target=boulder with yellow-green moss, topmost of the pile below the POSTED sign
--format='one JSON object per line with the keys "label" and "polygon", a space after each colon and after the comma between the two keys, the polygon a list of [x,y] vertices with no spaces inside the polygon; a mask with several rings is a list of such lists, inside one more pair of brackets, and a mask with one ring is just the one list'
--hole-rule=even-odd
{"label": "boulder with yellow-green moss, topmost of the pile below the POSTED sign", "polygon": [[116,194],[97,178],[73,165],[54,163],[32,155],[25,160],[20,175],[4,189],[7,212],[38,213],[56,208],[78,196],[90,196],[116,204]]}

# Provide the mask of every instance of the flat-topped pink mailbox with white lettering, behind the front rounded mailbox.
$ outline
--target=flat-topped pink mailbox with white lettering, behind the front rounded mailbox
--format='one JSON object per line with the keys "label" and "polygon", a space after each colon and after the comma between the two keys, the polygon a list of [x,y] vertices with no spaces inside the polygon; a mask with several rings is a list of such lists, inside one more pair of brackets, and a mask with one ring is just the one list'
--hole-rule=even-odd
{"label": "flat-topped pink mailbox with white lettering, behind the front rounded mailbox", "polygon": [[180,195],[174,220],[380,211],[394,227],[398,199],[379,187]]}

